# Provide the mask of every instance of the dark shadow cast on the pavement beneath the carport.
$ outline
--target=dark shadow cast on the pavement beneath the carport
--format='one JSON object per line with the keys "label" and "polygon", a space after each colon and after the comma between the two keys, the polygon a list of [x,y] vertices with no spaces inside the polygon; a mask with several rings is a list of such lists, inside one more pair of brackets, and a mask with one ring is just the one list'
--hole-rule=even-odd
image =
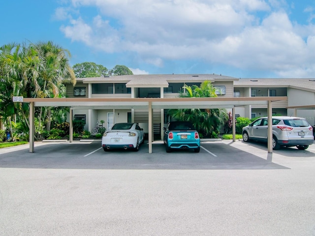
{"label": "dark shadow cast on the pavement beneath the carport", "polygon": [[[46,144],[0,154],[0,168],[33,169],[103,169],[103,170],[266,170],[289,169],[272,163],[272,153],[266,159],[223,143],[202,144],[199,153],[176,150],[166,153],[163,144],[148,144],[140,150],[105,152],[99,142]],[[299,151],[299,150],[298,150]]]}

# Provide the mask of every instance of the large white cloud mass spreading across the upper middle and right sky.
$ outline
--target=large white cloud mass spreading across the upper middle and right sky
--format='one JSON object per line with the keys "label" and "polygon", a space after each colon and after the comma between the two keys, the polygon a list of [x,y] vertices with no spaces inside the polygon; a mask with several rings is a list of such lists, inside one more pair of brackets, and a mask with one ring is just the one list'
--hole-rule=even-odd
{"label": "large white cloud mass spreading across the upper middle and right sky", "polygon": [[[285,0],[133,0],[132,4],[72,0],[72,4],[71,11],[56,13],[60,19],[71,16],[61,28],[65,36],[105,53],[127,52],[157,67],[168,59],[201,59],[279,75],[315,72],[310,62],[315,61],[315,27],[292,24],[284,11]],[[98,15],[80,16],[79,9],[85,6],[97,7]]]}

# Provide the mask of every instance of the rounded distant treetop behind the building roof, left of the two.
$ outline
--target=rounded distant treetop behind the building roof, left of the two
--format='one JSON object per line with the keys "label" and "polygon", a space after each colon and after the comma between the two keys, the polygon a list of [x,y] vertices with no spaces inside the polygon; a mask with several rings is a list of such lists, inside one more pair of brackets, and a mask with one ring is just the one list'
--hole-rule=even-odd
{"label": "rounded distant treetop behind the building roof, left of the two", "polygon": [[97,65],[95,62],[78,63],[72,68],[76,78],[100,77],[108,73],[105,66]]}

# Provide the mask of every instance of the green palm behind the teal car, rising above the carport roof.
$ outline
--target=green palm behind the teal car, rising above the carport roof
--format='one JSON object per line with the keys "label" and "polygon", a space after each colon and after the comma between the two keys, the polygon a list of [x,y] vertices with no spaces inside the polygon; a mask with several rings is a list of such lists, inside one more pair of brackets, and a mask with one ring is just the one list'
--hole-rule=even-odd
{"label": "green palm behind the teal car, rising above the carport roof", "polygon": [[[217,97],[216,89],[209,81],[201,83],[200,87],[185,85],[181,97]],[[223,109],[171,109],[168,114],[177,120],[192,122],[201,136],[218,137],[221,126],[227,119]]]}

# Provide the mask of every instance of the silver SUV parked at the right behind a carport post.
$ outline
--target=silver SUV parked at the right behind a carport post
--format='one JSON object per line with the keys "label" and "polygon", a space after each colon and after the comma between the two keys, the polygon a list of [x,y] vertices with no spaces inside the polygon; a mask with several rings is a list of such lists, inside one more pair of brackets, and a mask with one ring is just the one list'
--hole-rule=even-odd
{"label": "silver SUV parked at the right behind a carport post", "polygon": [[[254,120],[243,128],[243,140],[267,142],[268,118],[262,117]],[[272,117],[272,148],[296,146],[305,150],[313,144],[313,127],[304,118],[298,117]]]}

